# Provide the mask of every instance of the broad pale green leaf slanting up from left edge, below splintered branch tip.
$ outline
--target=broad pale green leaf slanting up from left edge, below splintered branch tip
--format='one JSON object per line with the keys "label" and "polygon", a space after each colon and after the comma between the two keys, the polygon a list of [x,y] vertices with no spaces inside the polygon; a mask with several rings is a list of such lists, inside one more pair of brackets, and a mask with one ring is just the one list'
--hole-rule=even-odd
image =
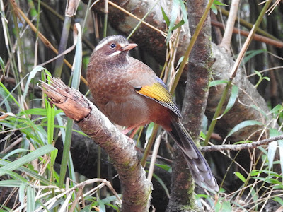
{"label": "broad pale green leaf slanting up from left edge, below splintered branch tip", "polygon": [[30,163],[30,161],[35,160],[36,158],[39,158],[41,155],[45,155],[46,153],[50,153],[50,151],[53,151],[55,148],[52,145],[46,145],[42,146],[41,148],[38,148],[37,150],[29,153],[28,155],[23,156],[22,158],[19,158],[18,160],[15,160],[11,163],[8,163],[7,165],[4,165],[0,168],[0,177],[2,175],[6,174],[6,170],[16,170],[18,167],[21,167],[21,165],[24,165],[25,163]]}

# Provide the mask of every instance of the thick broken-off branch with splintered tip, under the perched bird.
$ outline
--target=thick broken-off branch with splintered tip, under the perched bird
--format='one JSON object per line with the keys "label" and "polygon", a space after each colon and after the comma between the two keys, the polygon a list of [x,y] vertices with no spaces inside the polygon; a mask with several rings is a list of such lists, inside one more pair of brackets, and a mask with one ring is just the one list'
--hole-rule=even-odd
{"label": "thick broken-off branch with splintered tip, under the perched bird", "polygon": [[50,101],[76,120],[81,129],[105,152],[119,174],[122,184],[122,211],[149,211],[151,182],[137,158],[134,143],[120,131],[78,90],[65,86],[60,79],[52,84],[41,82]]}

